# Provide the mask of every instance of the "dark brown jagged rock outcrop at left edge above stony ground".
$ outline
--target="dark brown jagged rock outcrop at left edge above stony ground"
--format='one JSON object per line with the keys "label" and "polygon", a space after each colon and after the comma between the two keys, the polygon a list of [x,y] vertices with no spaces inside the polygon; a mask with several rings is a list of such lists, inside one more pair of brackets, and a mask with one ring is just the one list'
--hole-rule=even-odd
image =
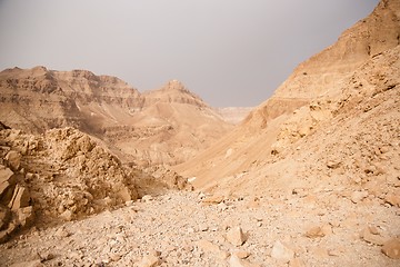
{"label": "dark brown jagged rock outcrop at left edge above stony ground", "polygon": [[0,130],[1,241],[16,230],[71,220],[136,200],[136,178],[89,136]]}

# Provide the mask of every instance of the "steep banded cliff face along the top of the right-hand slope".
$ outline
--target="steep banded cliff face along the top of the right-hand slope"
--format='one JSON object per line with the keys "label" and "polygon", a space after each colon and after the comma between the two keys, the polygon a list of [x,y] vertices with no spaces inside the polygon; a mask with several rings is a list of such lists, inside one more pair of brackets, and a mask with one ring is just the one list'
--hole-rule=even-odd
{"label": "steep banded cliff face along the top of the right-hand slope", "polygon": [[399,1],[381,1],[336,43],[300,63],[274,95],[253,110],[249,123],[264,127],[267,121],[290,113],[318,96],[340,90],[343,80],[371,57],[399,44]]}

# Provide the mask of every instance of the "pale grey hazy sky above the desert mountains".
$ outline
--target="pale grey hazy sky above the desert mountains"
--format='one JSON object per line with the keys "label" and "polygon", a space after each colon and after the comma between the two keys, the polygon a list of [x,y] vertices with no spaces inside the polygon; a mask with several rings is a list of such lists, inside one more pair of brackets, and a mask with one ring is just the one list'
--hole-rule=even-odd
{"label": "pale grey hazy sky above the desert mountains", "polygon": [[0,0],[0,69],[178,79],[213,107],[257,106],[378,0]]}

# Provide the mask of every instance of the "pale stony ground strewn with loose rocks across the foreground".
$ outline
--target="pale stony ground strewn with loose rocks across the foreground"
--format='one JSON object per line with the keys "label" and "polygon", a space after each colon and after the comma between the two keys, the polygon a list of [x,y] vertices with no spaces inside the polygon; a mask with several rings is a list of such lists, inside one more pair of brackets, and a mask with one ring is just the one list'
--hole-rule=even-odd
{"label": "pale stony ground strewn with loose rocks across the foreground", "polygon": [[398,211],[351,205],[332,191],[257,198],[169,192],[84,220],[33,228],[0,246],[0,264],[399,266],[399,241],[392,239],[400,234]]}

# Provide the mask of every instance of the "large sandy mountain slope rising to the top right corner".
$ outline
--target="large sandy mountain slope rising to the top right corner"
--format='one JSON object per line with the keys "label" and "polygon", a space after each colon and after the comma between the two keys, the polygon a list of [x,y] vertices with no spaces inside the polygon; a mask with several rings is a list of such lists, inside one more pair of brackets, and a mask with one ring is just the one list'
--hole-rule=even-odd
{"label": "large sandy mountain slope rising to the top right corner", "polygon": [[[381,1],[334,44],[299,65],[219,144],[174,169],[198,189],[220,194],[348,186],[348,177],[379,174],[377,166],[397,185],[399,10],[400,1]],[[394,184],[381,185],[383,199],[398,194]]]}

